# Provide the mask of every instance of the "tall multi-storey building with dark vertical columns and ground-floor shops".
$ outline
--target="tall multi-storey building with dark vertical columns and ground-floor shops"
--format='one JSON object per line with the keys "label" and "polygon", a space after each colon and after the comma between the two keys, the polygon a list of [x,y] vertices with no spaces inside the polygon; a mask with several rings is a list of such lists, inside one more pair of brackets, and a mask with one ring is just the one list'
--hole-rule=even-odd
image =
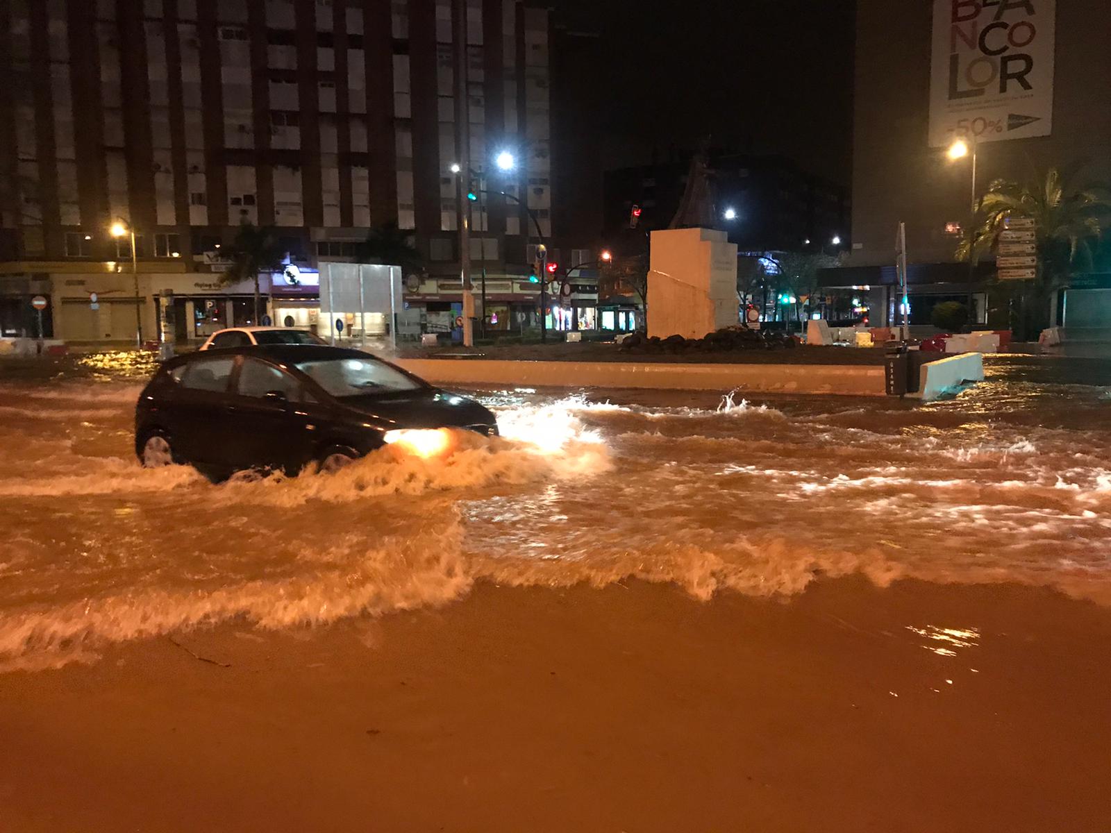
{"label": "tall multi-storey building with dark vertical columns and ground-floor shops", "polygon": [[[456,150],[460,49],[469,160]],[[548,86],[548,13],[521,0],[9,0],[0,334],[33,334],[36,294],[44,334],[69,341],[133,340],[137,305],[144,333],[172,305],[179,340],[247,323],[253,287],[220,280],[242,223],[273,227],[300,273],[263,275],[267,314],[327,334],[311,275],[391,222],[426,263],[406,277],[399,329],[450,331],[453,163],[480,192],[467,210],[487,328],[534,324],[527,264],[552,233]],[[136,233],[134,275],[118,221]]]}

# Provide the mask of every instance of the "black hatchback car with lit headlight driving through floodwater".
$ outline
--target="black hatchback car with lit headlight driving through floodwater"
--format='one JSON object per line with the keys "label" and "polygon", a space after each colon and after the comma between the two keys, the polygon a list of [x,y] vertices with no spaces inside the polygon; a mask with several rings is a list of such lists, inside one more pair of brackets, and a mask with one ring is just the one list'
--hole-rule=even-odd
{"label": "black hatchback car with lit headlight driving through floodwater", "polygon": [[144,466],[192,463],[220,478],[246,469],[339,469],[387,443],[430,455],[447,432],[498,433],[478,402],[359,350],[274,344],[167,361],[139,394]]}

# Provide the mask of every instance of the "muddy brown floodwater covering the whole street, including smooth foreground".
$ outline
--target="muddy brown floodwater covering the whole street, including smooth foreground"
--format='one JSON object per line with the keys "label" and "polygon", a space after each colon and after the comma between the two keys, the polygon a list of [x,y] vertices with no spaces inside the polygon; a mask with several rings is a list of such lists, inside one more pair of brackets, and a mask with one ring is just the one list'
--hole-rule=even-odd
{"label": "muddy brown floodwater covering the whole street, including smooth foreground", "polygon": [[[137,762],[159,759],[157,746],[144,745],[157,734],[150,715],[172,713],[186,725],[193,717],[181,715],[207,704],[204,720],[214,723],[206,731],[230,732],[234,744],[230,726],[252,730],[224,713],[229,704],[242,704],[237,714],[254,703],[260,714],[288,720],[291,704],[317,699],[337,715],[383,704],[404,726],[394,725],[394,740],[384,740],[388,725],[360,730],[383,733],[379,749],[391,750],[383,760],[404,760],[431,780],[428,794],[394,784],[387,790],[392,800],[379,796],[374,817],[383,830],[434,830],[446,819],[467,820],[448,830],[933,830],[945,819],[954,830],[975,829],[972,820],[980,829],[1007,820],[1012,830],[1039,829],[1030,826],[1035,822],[1107,830],[1098,825],[1111,812],[1101,815],[1105,804],[1092,779],[1109,774],[1099,749],[1111,721],[1103,668],[1111,634],[1111,373],[1105,362],[1063,359],[1010,357],[987,365],[984,383],[927,405],[745,400],[743,391],[478,391],[498,414],[501,439],[464,442],[439,460],[388,450],[332,475],[241,475],[222,484],[186,466],[138,465],[131,421],[141,380],[110,367],[4,380],[0,368],[0,703],[10,706],[0,727],[16,732],[21,754],[53,762],[48,769],[58,766],[59,749],[76,743],[74,760],[103,753],[104,772],[114,773],[102,773],[101,783],[80,770],[73,781],[62,767],[52,770],[53,782],[41,782],[43,790],[77,785],[67,826],[40,813],[30,782],[0,765],[0,805],[19,813],[19,826],[4,827],[0,810],[0,829],[113,830],[112,820],[124,819],[141,826],[142,797],[111,795],[112,784],[143,769]],[[222,656],[233,668],[190,654]],[[416,673],[414,656],[440,663],[443,673],[427,680],[424,699],[406,711],[394,701],[407,673]],[[257,688],[260,676],[236,676],[252,662],[278,689]],[[573,680],[562,675],[572,669]],[[981,676],[985,669],[990,679]],[[308,673],[319,674],[318,688]],[[194,681],[199,674],[211,682]],[[539,690],[550,676],[564,688]],[[522,688],[514,700],[516,685]],[[196,697],[192,705],[181,686]],[[351,702],[351,686],[369,700]],[[1054,686],[1069,704],[1048,695]],[[647,696],[653,688],[659,699]],[[832,712],[823,691],[835,692]],[[503,744],[513,767],[556,769],[521,784],[520,773],[502,773],[476,787],[472,800],[456,795],[466,792],[457,783],[464,775],[452,771],[454,780],[437,793],[434,767],[414,763],[416,747],[397,739],[416,732],[418,746],[427,740],[428,753],[449,770],[470,766],[472,777],[489,779],[490,767],[504,767],[468,763],[442,720],[466,720],[458,710],[479,709],[494,692],[513,701],[504,706],[506,725],[524,735],[493,732],[489,743]],[[625,716],[612,710],[620,701]],[[96,703],[103,723],[84,722],[82,703]],[[861,704],[870,711],[854,714]],[[150,711],[129,722],[124,706]],[[763,715],[759,725],[739,707]],[[892,719],[892,707],[905,714]],[[563,727],[539,746],[526,731],[537,710]],[[600,722],[601,714],[609,720]],[[991,735],[984,721],[993,720],[1013,721],[1018,734],[1005,742],[978,734]],[[732,737],[741,724],[754,745],[737,736],[740,746],[728,753],[715,735]],[[800,737],[801,724],[813,730],[809,740]],[[1050,743],[1045,754],[1060,772],[1049,780],[1060,774],[1071,785],[1054,787],[1071,806],[1028,796],[1037,806],[1023,814],[1014,802],[1037,783],[1044,732],[1060,741],[1047,729],[1054,725],[1071,735]],[[69,734],[52,734],[58,726]],[[902,743],[900,726],[915,740]],[[928,750],[931,726],[963,740]],[[290,731],[300,737],[302,729]],[[463,731],[467,742],[480,743],[472,729]],[[662,733],[658,747],[637,746],[641,730]],[[777,739],[797,744],[795,756]],[[186,739],[158,742],[180,761],[200,754]],[[337,759],[313,744],[347,742],[328,731],[299,740],[329,771]],[[594,771],[597,760],[582,763],[587,747],[612,759],[613,769],[595,779],[624,771],[645,789],[674,789],[670,811],[618,786],[607,802],[568,775],[563,767]],[[252,765],[282,754],[251,749],[261,756]],[[938,767],[961,770],[961,761],[942,762],[960,750],[977,766],[1001,769],[965,770],[967,781],[954,784]],[[918,786],[902,799],[879,799],[842,784],[825,807],[791,797],[794,787],[824,796],[829,784],[792,787],[790,777],[805,770],[818,779],[815,762],[842,753],[867,761],[875,783],[901,783],[919,766],[954,794],[968,787],[969,802],[972,781],[994,784],[1000,772],[1011,781],[984,787],[990,800],[967,816],[945,802],[931,810]],[[659,767],[669,755],[687,770],[662,786]],[[779,767],[759,776],[774,787],[743,780],[741,770],[761,755]],[[700,760],[717,769],[693,777]],[[214,789],[180,761],[173,765],[192,773],[192,789]],[[358,762],[348,765],[359,771]],[[206,766],[221,777],[241,775],[228,760]],[[877,772],[884,766],[893,769]],[[1069,766],[1080,767],[1071,781]],[[387,785],[389,769],[366,774]],[[722,797],[730,789],[723,772],[744,795],[735,806]],[[554,793],[538,786],[549,782]],[[100,803],[81,797],[82,783],[99,784]],[[711,783],[717,792],[707,794]],[[508,815],[483,803],[496,804],[499,790],[514,784]],[[253,781],[244,790],[264,791]],[[563,810],[543,816],[550,824],[514,821],[509,812],[514,801],[534,810],[557,794]],[[250,795],[240,799],[249,803]],[[429,795],[456,796],[461,815]],[[402,796],[423,803],[408,825],[400,823]],[[237,801],[223,792],[210,797]],[[312,805],[310,795],[304,801]],[[575,801],[579,815],[567,811]],[[851,809],[844,823],[820,824],[839,801]],[[878,802],[871,815],[869,802]],[[341,805],[361,817],[353,804],[331,806]],[[252,813],[216,829],[309,829],[291,821],[300,819],[291,809],[288,826]],[[348,817],[337,815],[329,829],[349,829]],[[190,829],[188,813],[181,819],[180,829]],[[683,824],[700,819],[705,825]]]}

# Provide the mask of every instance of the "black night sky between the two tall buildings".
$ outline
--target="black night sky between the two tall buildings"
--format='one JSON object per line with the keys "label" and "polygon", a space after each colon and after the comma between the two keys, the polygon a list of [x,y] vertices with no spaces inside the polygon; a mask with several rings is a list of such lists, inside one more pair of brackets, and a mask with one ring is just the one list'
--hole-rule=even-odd
{"label": "black night sky between the two tall buildings", "polygon": [[[841,184],[851,177],[852,0],[553,0],[554,20],[593,30],[569,61],[579,119],[602,167],[653,149],[782,153]],[[583,41],[585,42],[585,41]],[[567,56],[562,56],[567,58]]]}

